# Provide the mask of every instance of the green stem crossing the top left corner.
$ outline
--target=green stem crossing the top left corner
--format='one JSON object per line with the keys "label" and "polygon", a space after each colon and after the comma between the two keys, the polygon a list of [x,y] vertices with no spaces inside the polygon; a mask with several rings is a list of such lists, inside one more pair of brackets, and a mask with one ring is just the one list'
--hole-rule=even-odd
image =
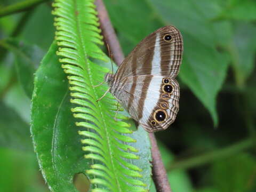
{"label": "green stem crossing the top left corner", "polygon": [[23,2],[19,2],[19,3],[15,3],[12,5],[3,7],[0,10],[0,17],[10,15],[13,13],[26,11],[26,10],[30,9],[31,7],[34,7],[34,6],[38,5],[39,3],[43,3],[46,1],[49,1],[49,0],[26,0]]}

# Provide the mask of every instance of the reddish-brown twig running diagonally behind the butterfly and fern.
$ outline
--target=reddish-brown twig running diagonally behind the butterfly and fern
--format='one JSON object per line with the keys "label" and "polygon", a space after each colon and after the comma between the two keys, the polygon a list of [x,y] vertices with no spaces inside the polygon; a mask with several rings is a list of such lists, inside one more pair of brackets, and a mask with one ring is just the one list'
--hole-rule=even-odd
{"label": "reddish-brown twig running diagonally behind the butterfly and fern", "polygon": [[[98,17],[100,19],[100,27],[103,37],[109,44],[111,51],[113,51],[114,61],[118,66],[120,66],[124,60],[124,54],[116,37],[113,26],[109,20],[107,10],[102,0],[95,0],[95,4],[97,5]],[[171,187],[167,179],[167,174],[154,133],[149,133],[149,139],[151,141],[153,180],[156,186],[156,190],[158,192],[171,192]]]}

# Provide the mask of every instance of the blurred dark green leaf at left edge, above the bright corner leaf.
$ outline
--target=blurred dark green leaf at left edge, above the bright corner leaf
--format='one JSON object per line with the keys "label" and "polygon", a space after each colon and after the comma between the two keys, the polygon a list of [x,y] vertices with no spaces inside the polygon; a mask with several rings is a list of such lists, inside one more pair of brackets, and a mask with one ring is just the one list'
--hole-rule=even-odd
{"label": "blurred dark green leaf at left edge, above the bright corner leaf", "polygon": [[29,124],[0,102],[0,147],[32,151]]}

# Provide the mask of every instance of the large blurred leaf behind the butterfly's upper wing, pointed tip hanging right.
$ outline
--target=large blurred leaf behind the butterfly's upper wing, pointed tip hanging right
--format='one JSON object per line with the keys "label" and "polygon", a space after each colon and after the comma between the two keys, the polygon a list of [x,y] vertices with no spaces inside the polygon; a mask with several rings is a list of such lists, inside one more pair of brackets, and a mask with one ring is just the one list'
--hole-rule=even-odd
{"label": "large blurred leaf behind the butterfly's upper wing, pointed tip hanging right", "polygon": [[[184,56],[180,77],[210,111],[217,125],[216,98],[226,77],[229,58],[215,46],[228,41],[231,35],[229,22],[211,22],[222,10],[218,2],[143,0],[130,1],[131,6],[123,6],[125,1],[105,3],[122,42],[130,41],[133,46],[158,27],[174,24],[181,30]],[[132,9],[137,6],[143,9]],[[226,32],[220,33],[219,27]],[[123,47],[126,53],[131,51]]]}

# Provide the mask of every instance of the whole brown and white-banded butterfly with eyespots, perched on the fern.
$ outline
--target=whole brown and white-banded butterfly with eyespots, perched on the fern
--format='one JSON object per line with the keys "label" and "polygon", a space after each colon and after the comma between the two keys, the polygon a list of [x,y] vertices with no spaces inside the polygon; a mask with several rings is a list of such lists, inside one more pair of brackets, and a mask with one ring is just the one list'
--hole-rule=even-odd
{"label": "whole brown and white-banded butterfly with eyespots, perched on the fern", "polygon": [[107,73],[109,91],[148,132],[165,130],[179,110],[175,77],[182,61],[183,40],[173,26],[143,39],[124,59],[116,74]]}

